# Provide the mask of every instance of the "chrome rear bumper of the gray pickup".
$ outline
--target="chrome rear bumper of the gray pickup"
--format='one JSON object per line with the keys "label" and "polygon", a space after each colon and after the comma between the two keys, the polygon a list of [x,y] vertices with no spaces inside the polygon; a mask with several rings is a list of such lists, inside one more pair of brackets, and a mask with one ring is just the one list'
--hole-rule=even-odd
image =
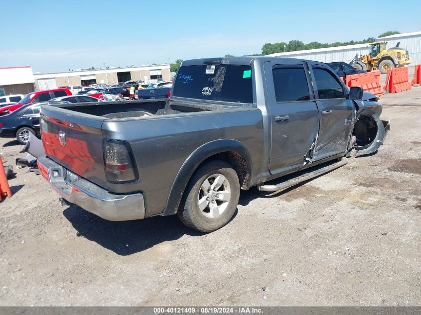
{"label": "chrome rear bumper of the gray pickup", "polygon": [[[67,202],[110,221],[144,218],[143,195],[115,195],[70,173],[47,157],[38,159],[39,171],[55,191]],[[67,184],[72,177],[72,185]]]}

